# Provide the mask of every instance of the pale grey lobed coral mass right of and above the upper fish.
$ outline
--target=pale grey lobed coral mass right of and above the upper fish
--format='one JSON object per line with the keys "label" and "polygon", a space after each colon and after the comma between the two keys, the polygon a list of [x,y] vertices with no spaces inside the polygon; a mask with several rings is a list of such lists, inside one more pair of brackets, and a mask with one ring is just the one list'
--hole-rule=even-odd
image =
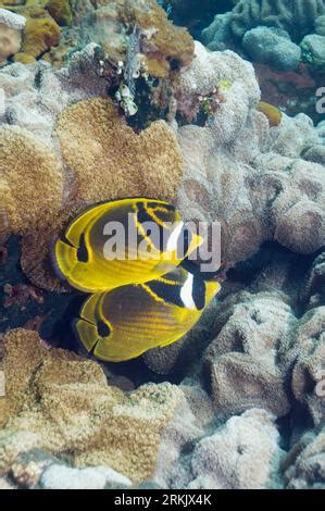
{"label": "pale grey lobed coral mass right of and above the upper fish", "polygon": [[325,239],[324,169],[302,159],[309,148],[323,146],[311,120],[284,115],[270,129],[255,109],[259,88],[250,64],[229,51],[196,48],[192,66],[182,73],[179,109],[192,109],[192,98],[209,94],[221,77],[234,83],[207,126],[177,132],[185,162],[180,211],[221,222],[222,259],[230,265],[271,239],[301,253],[314,252]]}

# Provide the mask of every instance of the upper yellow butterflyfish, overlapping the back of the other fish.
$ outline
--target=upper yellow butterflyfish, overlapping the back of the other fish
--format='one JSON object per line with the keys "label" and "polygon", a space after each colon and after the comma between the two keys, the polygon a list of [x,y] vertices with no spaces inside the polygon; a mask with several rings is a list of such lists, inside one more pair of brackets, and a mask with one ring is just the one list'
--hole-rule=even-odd
{"label": "upper yellow butterflyfish, overlapping the back of the other fish", "polygon": [[121,199],[79,214],[55,241],[53,259],[71,286],[103,292],[168,273],[201,242],[168,202]]}

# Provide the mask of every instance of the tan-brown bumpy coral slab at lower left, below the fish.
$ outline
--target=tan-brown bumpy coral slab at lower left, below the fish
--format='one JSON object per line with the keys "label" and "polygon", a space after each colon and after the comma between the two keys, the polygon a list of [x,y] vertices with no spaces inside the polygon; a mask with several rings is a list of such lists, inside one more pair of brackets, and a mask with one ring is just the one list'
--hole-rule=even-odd
{"label": "tan-brown bumpy coral slab at lower left, below the fish", "polygon": [[134,481],[152,474],[160,434],[180,394],[176,387],[148,385],[126,396],[108,386],[96,362],[49,349],[24,329],[5,336],[4,371],[2,474],[26,446],[68,452],[74,465],[109,465]]}

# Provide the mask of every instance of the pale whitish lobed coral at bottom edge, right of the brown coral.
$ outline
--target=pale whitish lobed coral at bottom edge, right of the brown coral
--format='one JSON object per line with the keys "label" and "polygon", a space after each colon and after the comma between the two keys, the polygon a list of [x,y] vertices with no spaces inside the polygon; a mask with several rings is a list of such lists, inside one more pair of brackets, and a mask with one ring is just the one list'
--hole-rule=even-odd
{"label": "pale whitish lobed coral at bottom edge, right of the brown coral", "polygon": [[[238,489],[276,487],[284,451],[274,416],[250,409],[221,425],[207,395],[182,386],[186,399],[167,425],[152,482],[160,487]],[[182,456],[186,450],[186,456]]]}

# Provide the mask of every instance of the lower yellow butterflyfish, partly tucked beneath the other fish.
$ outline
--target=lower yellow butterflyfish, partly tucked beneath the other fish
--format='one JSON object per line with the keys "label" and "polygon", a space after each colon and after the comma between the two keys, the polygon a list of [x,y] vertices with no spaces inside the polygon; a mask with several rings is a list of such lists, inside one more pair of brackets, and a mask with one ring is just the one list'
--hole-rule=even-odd
{"label": "lower yellow butterflyfish, partly tucked beneath the other fish", "polygon": [[220,290],[183,265],[146,284],[90,296],[73,322],[75,333],[96,358],[121,362],[184,336]]}

